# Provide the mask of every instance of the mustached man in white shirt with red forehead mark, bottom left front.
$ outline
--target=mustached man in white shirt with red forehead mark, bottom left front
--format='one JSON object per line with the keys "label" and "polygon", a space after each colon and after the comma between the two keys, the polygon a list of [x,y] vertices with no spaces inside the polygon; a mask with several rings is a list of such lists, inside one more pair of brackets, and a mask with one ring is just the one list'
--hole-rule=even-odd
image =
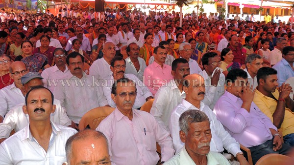
{"label": "mustached man in white shirt with red forehead mark, bottom left front", "polygon": [[61,165],[66,161],[64,146],[76,130],[50,122],[56,109],[53,99],[43,86],[35,86],[25,95],[23,111],[29,124],[0,144],[1,165]]}

